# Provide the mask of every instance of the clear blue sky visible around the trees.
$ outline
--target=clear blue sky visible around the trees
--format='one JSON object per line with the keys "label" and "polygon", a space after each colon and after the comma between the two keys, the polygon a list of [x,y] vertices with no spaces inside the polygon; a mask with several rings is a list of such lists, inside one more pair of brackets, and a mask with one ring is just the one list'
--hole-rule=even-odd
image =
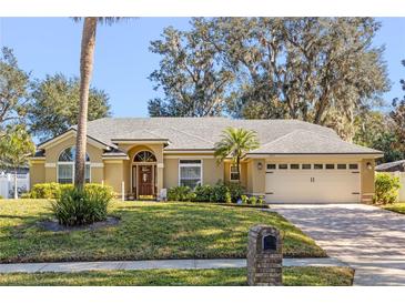
{"label": "clear blue sky visible around the trees", "polygon": [[[391,102],[404,95],[399,79],[405,78],[405,18],[378,19],[383,27],[374,39],[385,44],[385,60],[392,90]],[[148,116],[148,100],[156,97],[146,78],[159,67],[160,57],[148,48],[163,28],[189,28],[188,18],[140,18],[112,27],[99,27],[92,84],[110,95],[114,116]],[[34,78],[62,72],[79,75],[81,23],[68,18],[1,18],[0,45],[14,50],[19,64]]]}

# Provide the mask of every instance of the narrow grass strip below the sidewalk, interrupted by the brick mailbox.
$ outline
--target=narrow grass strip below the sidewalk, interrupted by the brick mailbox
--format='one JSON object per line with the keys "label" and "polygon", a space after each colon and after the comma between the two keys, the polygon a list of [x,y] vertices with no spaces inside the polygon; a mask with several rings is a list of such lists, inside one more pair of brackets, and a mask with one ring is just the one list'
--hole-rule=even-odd
{"label": "narrow grass strip below the sidewalk, interrupted by the brick mailbox", "polygon": [[[354,272],[347,267],[284,267],[287,286],[350,286]],[[82,273],[0,274],[9,286],[241,286],[246,268],[95,271]]]}

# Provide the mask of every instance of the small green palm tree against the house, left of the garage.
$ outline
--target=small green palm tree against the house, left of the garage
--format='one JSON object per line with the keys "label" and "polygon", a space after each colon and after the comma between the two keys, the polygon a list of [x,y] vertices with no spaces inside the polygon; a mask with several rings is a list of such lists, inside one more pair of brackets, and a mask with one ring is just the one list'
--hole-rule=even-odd
{"label": "small green palm tree against the house, left of the garage", "polygon": [[237,176],[240,176],[241,158],[244,153],[259,146],[260,143],[255,131],[229,126],[222,132],[222,139],[215,143],[214,155],[219,163],[231,156],[232,162],[236,164]]}

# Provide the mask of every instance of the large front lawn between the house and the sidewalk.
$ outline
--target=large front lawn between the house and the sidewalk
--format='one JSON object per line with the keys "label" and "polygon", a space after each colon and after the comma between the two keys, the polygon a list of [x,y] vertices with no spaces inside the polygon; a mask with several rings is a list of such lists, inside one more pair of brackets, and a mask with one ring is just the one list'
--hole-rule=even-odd
{"label": "large front lawn between the house and the sidewalk", "polygon": [[325,256],[297,227],[274,212],[202,203],[115,201],[117,226],[51,232],[45,200],[0,201],[0,262],[245,257],[247,231],[269,224],[283,231],[285,256]]}

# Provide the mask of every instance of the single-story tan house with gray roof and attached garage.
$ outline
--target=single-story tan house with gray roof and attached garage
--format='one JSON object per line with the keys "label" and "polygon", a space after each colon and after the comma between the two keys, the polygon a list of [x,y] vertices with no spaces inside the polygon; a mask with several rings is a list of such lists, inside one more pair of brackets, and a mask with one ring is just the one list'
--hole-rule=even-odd
{"label": "single-story tan house with gray roof and attached garage", "polygon": [[[261,143],[217,164],[214,144],[226,126],[255,130]],[[75,129],[38,145],[31,183],[73,182]],[[100,119],[88,124],[87,180],[126,197],[158,197],[176,185],[240,182],[267,202],[362,202],[374,194],[381,151],[341,140],[328,128],[296,120],[226,118]]]}

